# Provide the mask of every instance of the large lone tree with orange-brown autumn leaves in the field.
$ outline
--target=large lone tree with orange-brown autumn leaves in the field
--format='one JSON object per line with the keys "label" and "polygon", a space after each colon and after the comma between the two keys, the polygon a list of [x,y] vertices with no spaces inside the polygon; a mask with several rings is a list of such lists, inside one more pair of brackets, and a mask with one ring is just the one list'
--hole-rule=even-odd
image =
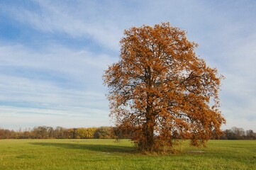
{"label": "large lone tree with orange-brown autumn leaves in the field", "polygon": [[[124,31],[120,60],[104,72],[110,116],[133,132],[140,149],[170,147],[174,139],[204,145],[221,134],[222,76],[196,57],[195,42],[169,23]],[[213,132],[214,131],[214,132]]]}

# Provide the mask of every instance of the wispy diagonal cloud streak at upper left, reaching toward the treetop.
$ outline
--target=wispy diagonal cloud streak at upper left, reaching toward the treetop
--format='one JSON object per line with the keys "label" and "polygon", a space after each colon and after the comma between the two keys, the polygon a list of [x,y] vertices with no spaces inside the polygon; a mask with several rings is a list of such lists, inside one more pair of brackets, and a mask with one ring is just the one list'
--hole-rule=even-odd
{"label": "wispy diagonal cloud streak at upper left, reaching toward the treetop", "polygon": [[[123,29],[120,29],[111,18],[106,19],[113,7],[106,11],[106,6],[93,1],[77,1],[77,3],[34,1],[34,3],[38,8],[5,7],[17,21],[27,23],[37,30],[56,34],[65,33],[74,38],[87,38],[103,47],[118,50],[118,41]],[[102,16],[103,14],[106,16]]]}

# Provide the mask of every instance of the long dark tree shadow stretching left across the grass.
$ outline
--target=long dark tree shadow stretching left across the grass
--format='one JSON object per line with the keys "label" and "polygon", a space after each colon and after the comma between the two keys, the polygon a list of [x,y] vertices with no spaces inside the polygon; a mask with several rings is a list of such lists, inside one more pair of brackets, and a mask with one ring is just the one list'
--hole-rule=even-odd
{"label": "long dark tree shadow stretching left across the grass", "polygon": [[81,144],[81,143],[55,143],[55,142],[30,142],[31,145],[41,145],[41,146],[52,146],[52,147],[62,147],[66,149],[86,149],[95,152],[107,152],[107,153],[136,153],[138,152],[135,147],[126,147],[118,145],[91,145],[91,144]]}

